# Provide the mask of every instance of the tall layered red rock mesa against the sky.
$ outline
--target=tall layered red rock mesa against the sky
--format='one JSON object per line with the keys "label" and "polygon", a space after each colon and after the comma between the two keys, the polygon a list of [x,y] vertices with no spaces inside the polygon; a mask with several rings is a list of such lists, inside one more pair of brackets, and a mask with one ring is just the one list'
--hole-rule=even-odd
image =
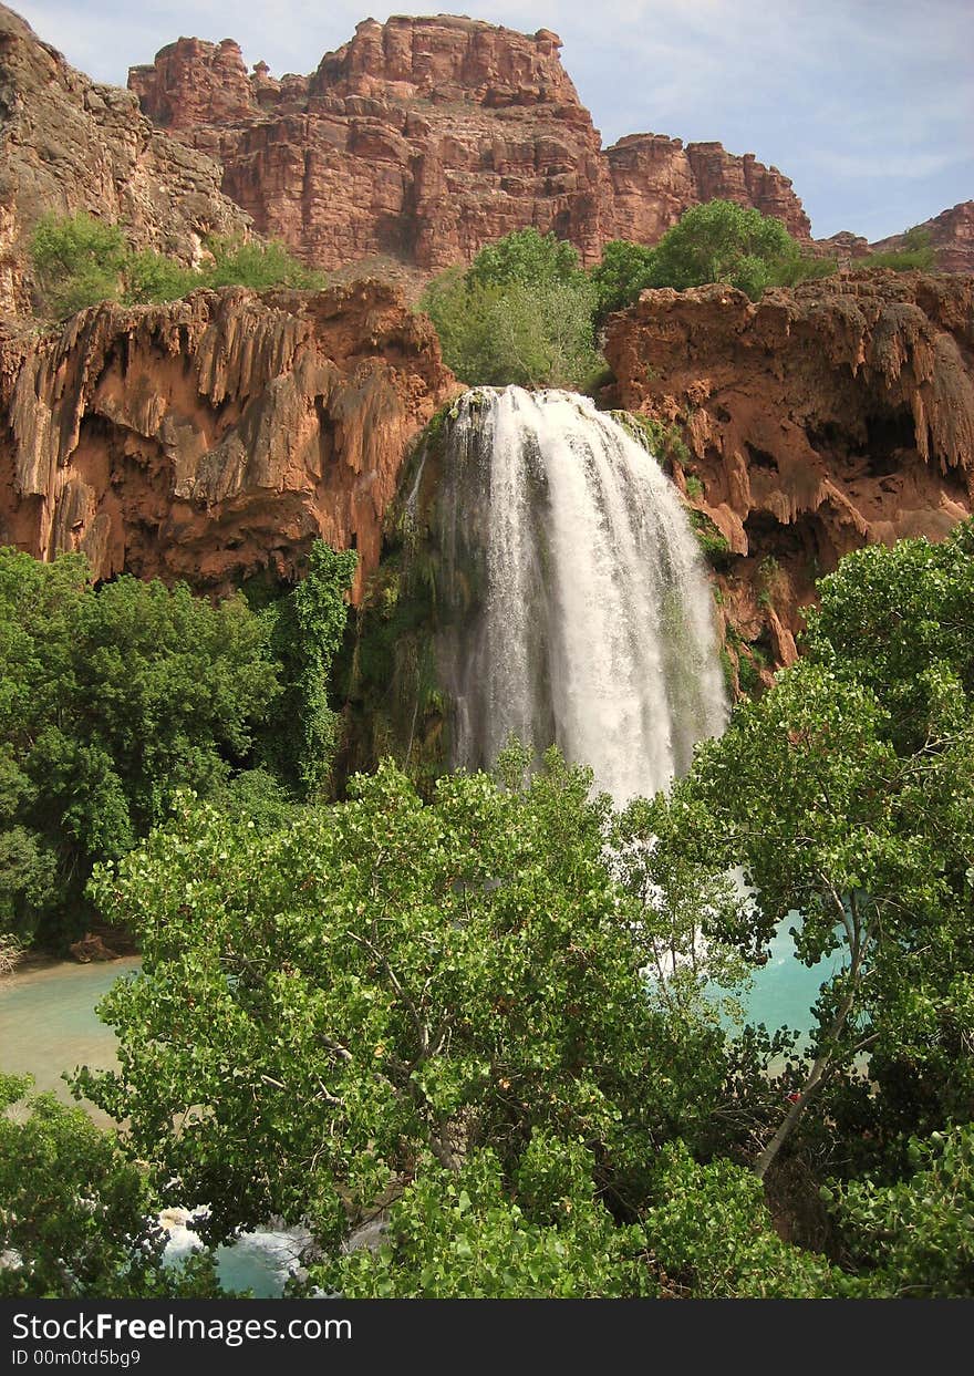
{"label": "tall layered red rock mesa against the sky", "polygon": [[655,242],[726,197],[809,222],[791,183],[719,143],[633,135],[603,150],[557,34],[475,19],[366,19],[311,77],[246,74],[235,43],[180,39],[129,87],[162,128],[223,165],[266,234],[325,268],[387,255],[435,270],[534,226],[585,263],[612,238]]}

